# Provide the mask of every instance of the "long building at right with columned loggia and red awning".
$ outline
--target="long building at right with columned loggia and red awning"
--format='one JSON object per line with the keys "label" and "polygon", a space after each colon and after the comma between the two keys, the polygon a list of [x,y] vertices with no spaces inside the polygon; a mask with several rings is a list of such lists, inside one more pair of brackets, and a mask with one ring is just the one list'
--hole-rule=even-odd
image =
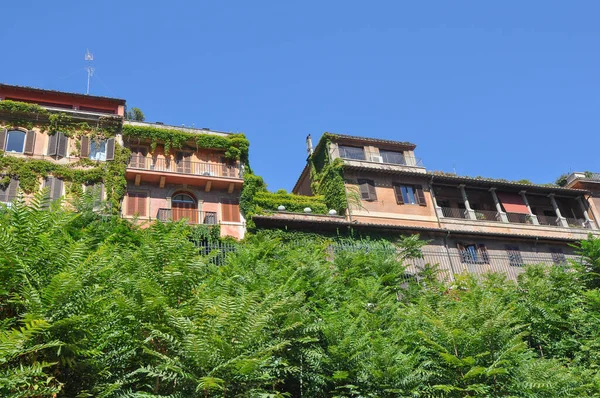
{"label": "long building at right with columned loggia and red awning", "polygon": [[282,212],[255,217],[257,226],[419,233],[429,240],[423,261],[449,274],[502,270],[511,277],[525,264],[561,264],[574,255],[570,244],[600,235],[593,178],[567,187],[472,178],[427,171],[409,142],[334,134],[314,149],[307,142],[308,164],[293,192],[313,194],[311,169],[319,166],[312,160],[325,153],[328,162],[342,162],[345,214]]}

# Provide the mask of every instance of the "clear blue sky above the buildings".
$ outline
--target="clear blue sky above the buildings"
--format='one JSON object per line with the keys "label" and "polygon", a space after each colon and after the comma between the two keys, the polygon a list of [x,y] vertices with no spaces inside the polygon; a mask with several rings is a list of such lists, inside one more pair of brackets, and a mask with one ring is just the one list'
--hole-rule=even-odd
{"label": "clear blue sky above the buildings", "polygon": [[325,131],[463,175],[600,171],[597,1],[5,3],[0,81],[84,92],[89,48],[92,94],[244,132],[273,190]]}

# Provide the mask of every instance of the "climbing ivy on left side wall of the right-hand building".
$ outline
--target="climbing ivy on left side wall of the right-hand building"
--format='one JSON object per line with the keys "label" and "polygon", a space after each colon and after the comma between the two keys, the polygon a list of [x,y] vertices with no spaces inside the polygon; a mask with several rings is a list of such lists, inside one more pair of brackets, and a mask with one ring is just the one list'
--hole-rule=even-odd
{"label": "climbing ivy on left side wall of the right-hand building", "polygon": [[335,135],[324,134],[317,150],[309,158],[311,189],[316,195],[322,195],[330,209],[344,214],[348,207],[346,186],[344,183],[344,161],[329,157],[329,146]]}

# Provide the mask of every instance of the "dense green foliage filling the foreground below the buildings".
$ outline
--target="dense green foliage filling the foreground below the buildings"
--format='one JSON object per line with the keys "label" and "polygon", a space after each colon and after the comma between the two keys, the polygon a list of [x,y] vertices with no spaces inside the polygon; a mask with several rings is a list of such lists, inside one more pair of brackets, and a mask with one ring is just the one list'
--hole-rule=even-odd
{"label": "dense green foliage filling the foreground below the buildings", "polygon": [[74,207],[0,212],[0,396],[600,396],[597,239],[571,270],[448,286],[385,243],[262,232],[216,266],[181,223]]}

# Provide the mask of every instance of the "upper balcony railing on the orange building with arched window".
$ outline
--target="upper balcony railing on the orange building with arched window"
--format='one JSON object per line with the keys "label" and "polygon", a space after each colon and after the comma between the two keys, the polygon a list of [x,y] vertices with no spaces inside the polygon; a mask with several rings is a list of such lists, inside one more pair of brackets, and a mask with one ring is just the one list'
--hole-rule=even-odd
{"label": "upper balcony railing on the orange building with arched window", "polygon": [[132,169],[192,174],[197,176],[242,178],[238,167],[224,163],[191,162],[188,160],[154,159],[132,156],[129,159],[128,167]]}

